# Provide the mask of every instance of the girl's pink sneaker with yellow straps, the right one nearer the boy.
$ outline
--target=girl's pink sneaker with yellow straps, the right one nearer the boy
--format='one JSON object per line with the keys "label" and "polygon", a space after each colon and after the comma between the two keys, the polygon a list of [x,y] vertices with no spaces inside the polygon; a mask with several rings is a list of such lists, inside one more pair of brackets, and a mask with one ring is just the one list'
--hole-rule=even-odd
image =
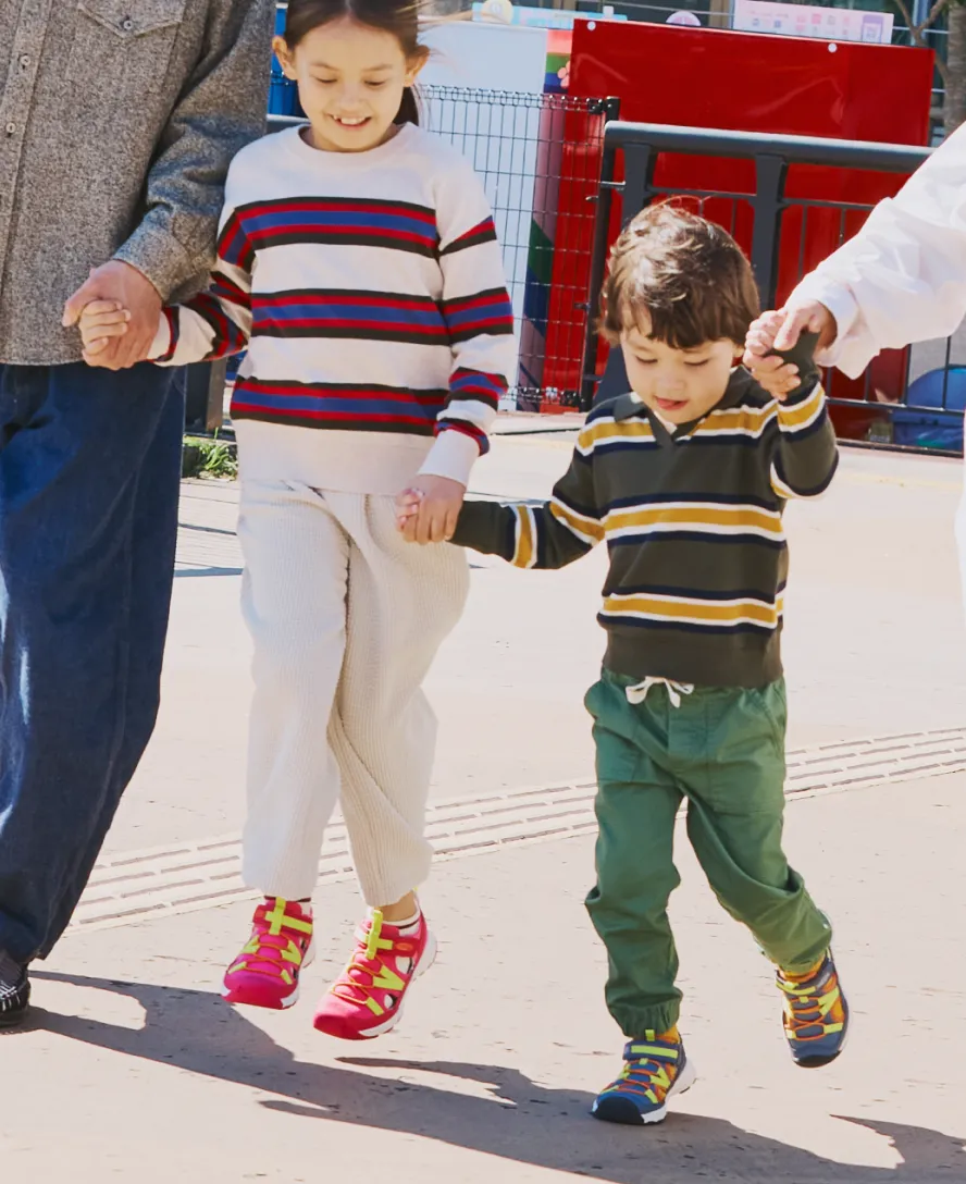
{"label": "girl's pink sneaker with yellow straps, the right one nearer the boy", "polygon": [[436,938],[420,914],[418,926],[398,926],[373,912],[355,934],[352,960],[315,1014],[315,1027],[339,1040],[372,1040],[395,1028],[406,991],[436,960]]}

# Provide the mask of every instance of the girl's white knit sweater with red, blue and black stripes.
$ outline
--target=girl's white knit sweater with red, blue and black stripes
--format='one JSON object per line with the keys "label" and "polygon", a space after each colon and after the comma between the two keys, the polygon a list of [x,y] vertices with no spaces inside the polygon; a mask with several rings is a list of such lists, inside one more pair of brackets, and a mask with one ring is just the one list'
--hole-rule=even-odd
{"label": "girl's white knit sweater with red, blue and black stripes", "polygon": [[470,163],[406,124],[366,153],[292,128],[236,156],[208,291],[165,310],[170,365],[247,347],[243,476],[395,494],[465,484],[513,377],[513,308]]}

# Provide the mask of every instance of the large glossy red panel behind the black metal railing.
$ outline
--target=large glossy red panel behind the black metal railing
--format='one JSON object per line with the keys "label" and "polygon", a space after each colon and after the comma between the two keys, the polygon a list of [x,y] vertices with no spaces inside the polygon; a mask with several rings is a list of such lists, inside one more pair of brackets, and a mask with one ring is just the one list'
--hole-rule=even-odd
{"label": "large glossy red panel behind the black metal railing", "polygon": [[[933,54],[926,50],[838,43],[793,37],[767,37],[666,25],[578,21],[573,38],[569,91],[587,97],[616,95],[620,117],[632,122],[812,135],[844,140],[925,144],[929,134]],[[569,130],[569,129],[568,129]],[[578,129],[574,129],[577,133]],[[585,178],[586,144],[567,136],[564,175]],[[577,143],[574,143],[577,140]],[[904,178],[854,169],[797,166],[790,169],[786,193],[824,201],[875,202],[889,197]],[[747,161],[663,156],[658,185],[671,189],[754,192],[754,166]],[[568,208],[561,208],[555,239],[586,236],[586,210],[592,187],[561,186]],[[747,201],[713,199],[703,212],[730,229],[745,250],[751,247],[752,213]],[[797,279],[856,232],[863,212],[812,210],[803,230],[800,210],[785,215],[779,256],[779,300]],[[612,236],[618,229],[618,218]],[[569,242],[568,242],[569,245]],[[577,244],[574,244],[577,245]],[[581,247],[584,243],[579,244]],[[567,251],[561,266],[573,268]],[[564,277],[560,277],[561,279]],[[568,275],[568,287],[574,277]],[[554,294],[564,289],[554,272]],[[566,298],[566,297],[562,297]],[[561,309],[550,303],[550,324]],[[566,317],[564,318],[566,320]],[[549,341],[548,341],[549,346]],[[548,348],[548,356],[553,350]],[[564,363],[545,384],[565,390],[579,386],[579,362]],[[897,391],[901,353],[874,365],[872,382]],[[837,375],[833,393],[862,398],[864,384]],[[859,418],[856,419],[855,416]],[[874,413],[839,416],[839,427],[854,435]]]}

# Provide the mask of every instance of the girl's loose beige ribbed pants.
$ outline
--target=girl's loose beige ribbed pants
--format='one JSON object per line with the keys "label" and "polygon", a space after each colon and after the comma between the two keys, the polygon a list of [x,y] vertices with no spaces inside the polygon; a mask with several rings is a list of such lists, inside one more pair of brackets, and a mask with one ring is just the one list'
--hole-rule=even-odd
{"label": "girl's loose beige ribbed pants", "polygon": [[255,641],[244,881],[310,896],[341,797],[362,895],[394,903],[430,869],[421,687],[466,599],[464,552],[407,543],[391,497],[252,481],[239,538]]}

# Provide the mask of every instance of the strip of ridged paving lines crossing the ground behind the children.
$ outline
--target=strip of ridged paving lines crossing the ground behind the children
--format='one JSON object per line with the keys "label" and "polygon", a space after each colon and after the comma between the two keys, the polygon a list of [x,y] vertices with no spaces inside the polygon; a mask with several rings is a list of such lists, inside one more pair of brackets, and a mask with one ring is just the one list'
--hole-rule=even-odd
{"label": "strip of ridged paving lines crossing the ground behind the children", "polygon": [[[966,771],[966,728],[820,745],[788,753],[788,800]],[[426,815],[437,858],[478,855],[594,830],[594,784],[549,785],[438,802]],[[240,879],[237,835],[121,854],[97,864],[69,933],[197,909],[256,894]],[[353,875],[346,828],[329,828],[320,881]]]}

